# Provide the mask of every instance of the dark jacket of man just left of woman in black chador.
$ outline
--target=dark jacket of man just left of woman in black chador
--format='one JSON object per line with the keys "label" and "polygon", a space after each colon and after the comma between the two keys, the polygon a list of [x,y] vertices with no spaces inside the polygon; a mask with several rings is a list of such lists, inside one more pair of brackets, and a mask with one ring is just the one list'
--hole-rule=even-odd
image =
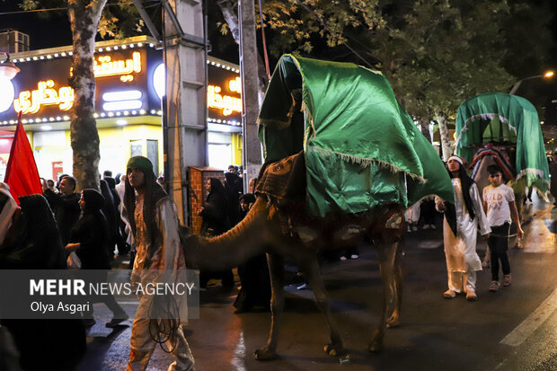
{"label": "dark jacket of man just left of woman in black chador", "polygon": [[69,242],[69,235],[72,227],[79,219],[79,199],[78,193],[64,196],[61,193],[54,193],[52,190],[45,190],[44,197],[49,201],[50,208],[54,211],[54,217],[62,238],[62,244],[66,246]]}

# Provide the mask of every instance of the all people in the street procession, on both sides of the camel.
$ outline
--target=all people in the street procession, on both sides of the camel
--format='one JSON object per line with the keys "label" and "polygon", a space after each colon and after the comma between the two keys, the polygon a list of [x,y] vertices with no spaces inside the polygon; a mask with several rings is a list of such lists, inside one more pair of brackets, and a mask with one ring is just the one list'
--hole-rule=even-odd
{"label": "all people in the street procession, on both sides of the camel", "polygon": [[[552,186],[557,179],[557,152],[553,154]],[[491,257],[490,291],[511,285],[508,261],[508,236],[511,223],[517,225],[517,237],[524,234],[517,211],[513,190],[503,183],[497,165],[488,167],[490,185],[479,190],[465,171],[465,164],[452,156],[446,169],[453,185],[455,204],[443,199],[422,199],[407,210],[408,232],[436,229],[437,213],[443,213],[443,240],[446,255],[447,289],[443,297],[452,299],[463,293],[469,301],[477,300],[476,272],[482,262],[476,252],[478,232],[487,240]],[[19,199],[20,207],[12,199],[9,187],[0,183],[0,269],[66,269],[67,257],[75,252],[81,269],[111,269],[115,254],[130,254],[132,281],[153,280],[150,272],[158,269],[185,269],[185,260],[178,235],[178,217],[172,199],[163,189],[164,177],[156,177],[153,165],[146,157],[132,157],[126,174],[112,178],[106,171],[100,180],[100,190],[86,189],[76,193],[75,178],[64,174],[57,180],[41,179],[43,194]],[[197,210],[202,217],[201,234],[207,237],[224,234],[247,215],[255,202],[257,179],[252,179],[249,190],[243,192],[242,172],[231,165],[224,181],[210,178],[206,183],[207,198]],[[552,187],[554,191],[556,187]],[[556,201],[557,202],[557,201]],[[340,260],[357,259],[357,248],[340,252]],[[337,258],[338,259],[338,258]],[[165,267],[172,261],[172,267]],[[500,280],[500,270],[502,280]],[[236,313],[270,309],[270,275],[265,254],[255,256],[238,267],[240,292],[234,301]],[[201,271],[199,283],[208,287],[211,279],[220,279],[222,286],[234,287],[232,270]],[[113,314],[107,327],[119,326],[128,314],[112,296],[91,298],[102,302]],[[142,296],[137,313],[146,312],[152,296]],[[146,315],[136,316],[132,324],[128,370],[145,369],[156,342],[149,333]],[[62,343],[75,358],[85,349],[85,329],[93,325],[93,311],[83,314],[83,321],[66,321]],[[3,320],[4,329],[13,336],[13,343],[21,353],[24,369],[42,369],[44,364],[64,365],[71,357],[60,358],[59,352],[49,348],[44,336],[52,336],[59,325],[56,321]],[[188,342],[180,322],[172,332],[175,369],[192,369]],[[32,336],[31,336],[32,334]],[[49,335],[46,335],[49,334]],[[33,341],[44,341],[40,357],[31,347]],[[50,363],[49,363],[50,362]],[[172,369],[174,369],[172,368]],[[60,369],[63,369],[60,368]]]}

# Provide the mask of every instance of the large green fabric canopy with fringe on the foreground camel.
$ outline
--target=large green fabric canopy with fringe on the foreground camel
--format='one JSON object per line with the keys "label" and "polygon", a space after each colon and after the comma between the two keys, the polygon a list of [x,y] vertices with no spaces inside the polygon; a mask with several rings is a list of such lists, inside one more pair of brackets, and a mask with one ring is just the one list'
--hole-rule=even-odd
{"label": "large green fabric canopy with fringe on the foreground camel", "polygon": [[443,163],[394,98],[385,76],[351,63],[285,55],[258,119],[266,162],[304,150],[310,212],[451,202]]}

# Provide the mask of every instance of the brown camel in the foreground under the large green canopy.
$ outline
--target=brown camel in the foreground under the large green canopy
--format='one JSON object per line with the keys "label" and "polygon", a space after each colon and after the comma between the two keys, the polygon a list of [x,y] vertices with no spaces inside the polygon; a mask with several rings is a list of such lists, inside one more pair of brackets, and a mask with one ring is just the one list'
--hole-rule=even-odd
{"label": "brown camel in the foreground under the large green canopy", "polygon": [[[387,204],[358,215],[323,219],[308,216],[305,209],[298,206],[297,213],[288,213],[289,227],[284,224],[284,210],[260,194],[243,221],[225,234],[204,238],[190,234],[189,229],[183,227],[182,243],[188,268],[231,269],[252,256],[267,253],[272,289],[270,335],[267,345],[255,350],[254,357],[270,360],[277,357],[280,315],[284,307],[284,259],[296,261],[314,291],[316,304],[330,331],[331,342],[324,346],[325,352],[341,360],[348,359],[319,274],[317,252],[325,244],[341,246],[367,237],[376,247],[384,287],[381,319],[373,331],[368,350],[383,349],[385,328],[400,324],[402,269],[397,244],[402,233],[403,209],[396,204]],[[393,313],[386,320],[393,304]]]}

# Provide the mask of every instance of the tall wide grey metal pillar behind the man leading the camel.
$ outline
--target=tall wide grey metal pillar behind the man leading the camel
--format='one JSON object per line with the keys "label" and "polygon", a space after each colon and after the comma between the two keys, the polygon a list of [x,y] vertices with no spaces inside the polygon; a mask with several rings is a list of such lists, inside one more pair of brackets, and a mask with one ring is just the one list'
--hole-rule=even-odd
{"label": "tall wide grey metal pillar behind the man leading the camel", "polygon": [[202,0],[162,0],[166,107],[164,181],[188,223],[190,166],[206,166],[207,32]]}

